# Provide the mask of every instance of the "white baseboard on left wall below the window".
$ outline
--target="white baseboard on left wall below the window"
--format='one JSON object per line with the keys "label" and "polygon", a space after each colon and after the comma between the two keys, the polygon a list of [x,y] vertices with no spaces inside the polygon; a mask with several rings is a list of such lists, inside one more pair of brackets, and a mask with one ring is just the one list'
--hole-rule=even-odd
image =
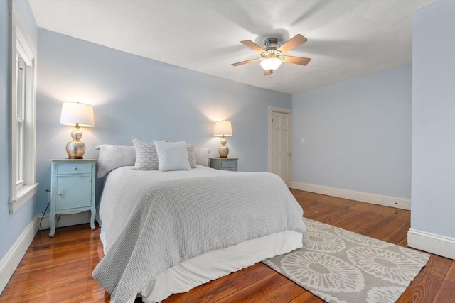
{"label": "white baseboard on left wall below the window", "polygon": [[4,288],[11,279],[14,271],[18,267],[19,263],[26,254],[28,247],[30,246],[33,238],[35,238],[36,232],[38,231],[38,220],[35,217],[27,228],[21,233],[21,236],[14,242],[13,246],[8,250],[8,253],[4,255],[0,260],[0,293],[3,292]]}

